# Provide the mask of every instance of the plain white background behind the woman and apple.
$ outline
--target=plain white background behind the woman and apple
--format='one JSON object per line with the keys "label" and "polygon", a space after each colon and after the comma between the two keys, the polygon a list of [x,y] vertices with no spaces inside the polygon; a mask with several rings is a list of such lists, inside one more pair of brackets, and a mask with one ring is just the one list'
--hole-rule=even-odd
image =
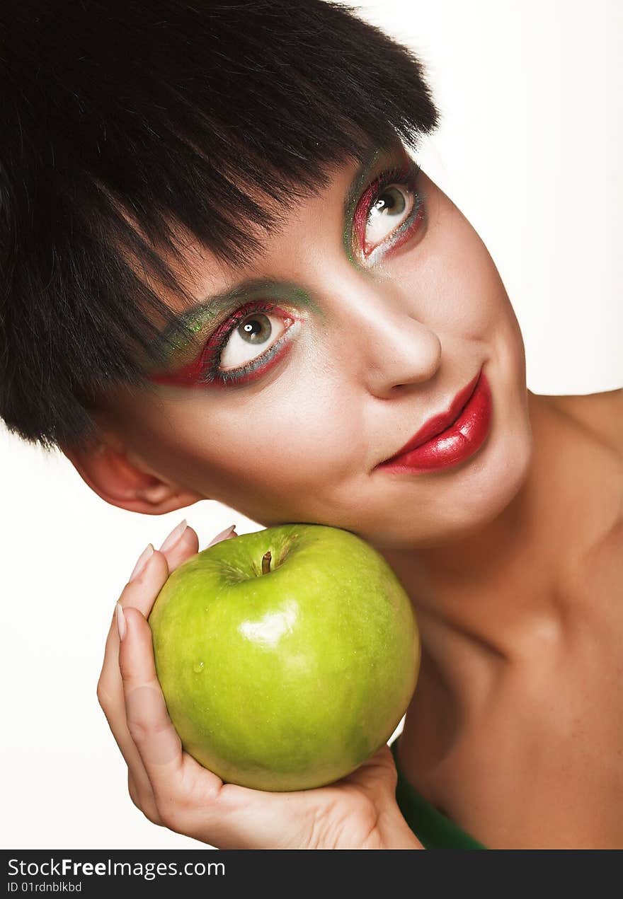
{"label": "plain white background behind the woman and apple", "polygon": [[[528,387],[623,384],[623,4],[375,0],[362,14],[425,62],[442,111],[420,165],[489,247],[526,341]],[[362,48],[362,52],[365,49]],[[0,426],[5,848],[202,844],[149,823],[95,699],[114,602],[184,515],[202,546],[218,503],[153,518],[91,493],[68,461]]]}

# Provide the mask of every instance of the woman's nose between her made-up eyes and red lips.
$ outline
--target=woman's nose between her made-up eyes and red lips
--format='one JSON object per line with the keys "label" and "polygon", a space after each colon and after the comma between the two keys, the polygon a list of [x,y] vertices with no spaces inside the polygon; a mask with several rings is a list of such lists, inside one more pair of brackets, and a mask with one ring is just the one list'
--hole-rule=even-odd
{"label": "woman's nose between her made-up eyes and red lips", "polygon": [[[417,317],[417,298],[377,280],[342,291],[340,316],[357,375],[374,396],[388,398],[432,378],[441,364],[438,334]],[[355,339],[357,335],[357,339]],[[343,346],[348,343],[342,343]]]}

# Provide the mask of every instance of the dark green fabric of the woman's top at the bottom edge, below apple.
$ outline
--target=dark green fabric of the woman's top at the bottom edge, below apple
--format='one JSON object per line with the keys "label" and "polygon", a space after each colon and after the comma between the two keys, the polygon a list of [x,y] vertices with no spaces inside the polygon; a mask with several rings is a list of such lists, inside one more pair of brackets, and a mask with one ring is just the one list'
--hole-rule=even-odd
{"label": "dark green fabric of the woman's top at the bottom edge, below apple", "polygon": [[458,824],[450,821],[435,806],[431,806],[423,796],[420,796],[416,788],[411,786],[398,765],[398,740],[399,737],[396,737],[390,747],[398,771],[396,802],[404,820],[422,846],[425,849],[486,849],[486,846],[462,831]]}

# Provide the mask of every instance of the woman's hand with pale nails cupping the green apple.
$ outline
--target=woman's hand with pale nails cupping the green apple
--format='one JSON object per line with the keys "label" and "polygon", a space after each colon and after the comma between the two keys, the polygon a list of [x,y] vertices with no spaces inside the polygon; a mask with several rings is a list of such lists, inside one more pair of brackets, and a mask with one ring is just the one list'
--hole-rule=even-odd
{"label": "woman's hand with pale nails cupping the green apple", "polygon": [[[149,821],[221,849],[419,849],[395,801],[387,746],[329,787],[268,793],[223,783],[183,751],[160,690],[149,612],[169,574],[196,555],[186,527],[153,552],[122,591],[97,696],[124,760],[134,804]],[[120,635],[122,639],[120,641]]]}

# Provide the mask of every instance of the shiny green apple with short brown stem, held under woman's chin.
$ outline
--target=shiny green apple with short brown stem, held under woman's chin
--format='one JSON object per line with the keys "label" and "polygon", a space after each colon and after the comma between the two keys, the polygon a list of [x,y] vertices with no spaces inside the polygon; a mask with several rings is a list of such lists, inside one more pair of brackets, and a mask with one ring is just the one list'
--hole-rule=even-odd
{"label": "shiny green apple with short brown stem, held under woman's chin", "polygon": [[244,787],[345,777],[387,742],[418,678],[401,583],[365,540],[324,525],[204,549],[170,575],[149,625],[185,751]]}

